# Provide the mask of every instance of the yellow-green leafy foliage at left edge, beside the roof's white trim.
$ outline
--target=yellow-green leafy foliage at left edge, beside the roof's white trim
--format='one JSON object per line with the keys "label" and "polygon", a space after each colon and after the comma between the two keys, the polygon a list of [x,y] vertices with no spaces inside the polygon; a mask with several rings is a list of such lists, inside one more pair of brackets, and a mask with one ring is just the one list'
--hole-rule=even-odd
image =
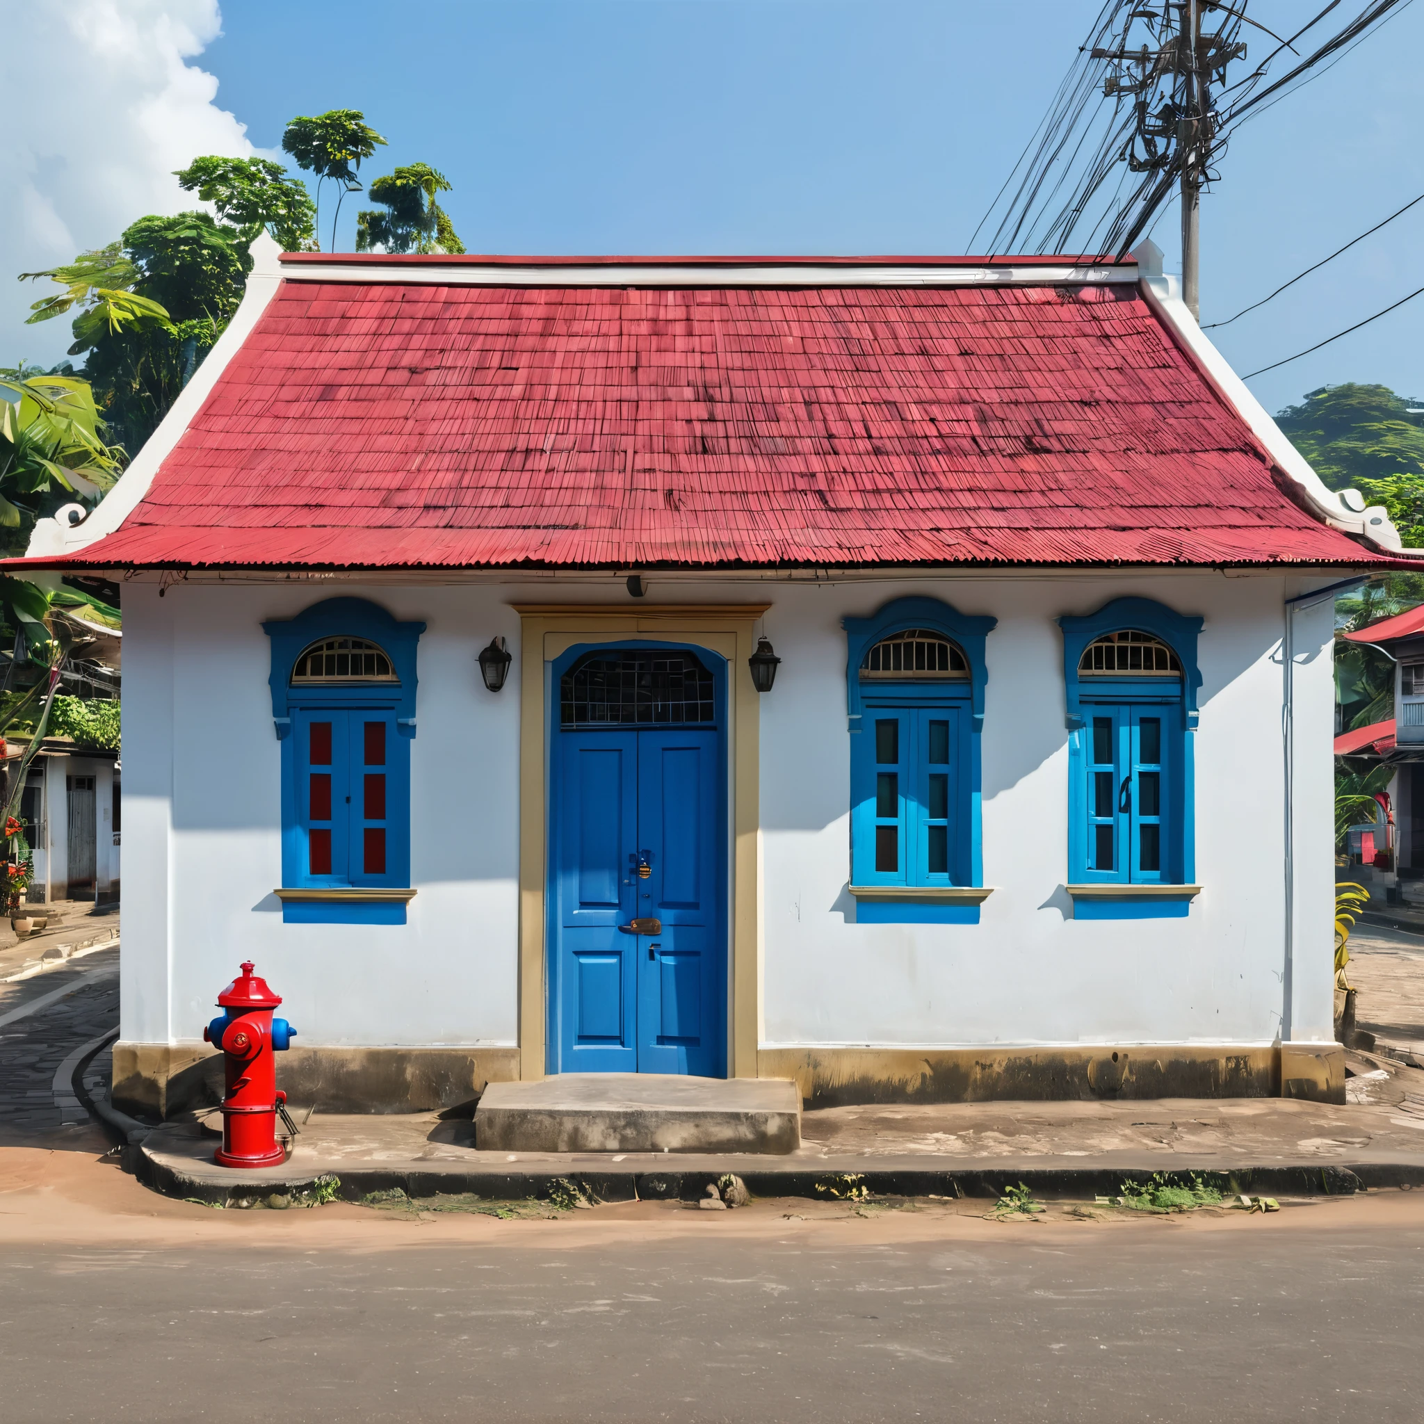
{"label": "yellow-green leafy foliage at left edge, beside the roof's white trim", "polygon": [[19,397],[0,396],[0,527],[27,534],[67,498],[98,500],[112,486],[124,451],[105,440],[88,382],[20,366],[0,370],[0,392]]}

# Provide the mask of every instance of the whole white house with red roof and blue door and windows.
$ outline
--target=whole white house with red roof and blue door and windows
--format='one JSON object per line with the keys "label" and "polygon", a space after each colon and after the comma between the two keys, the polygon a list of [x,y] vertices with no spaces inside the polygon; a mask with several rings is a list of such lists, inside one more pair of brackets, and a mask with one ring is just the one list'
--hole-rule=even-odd
{"label": "whole white house with red roof and blue door and windows", "polygon": [[19,561],[127,580],[121,1104],[242,958],[329,1108],[1344,1101],[1330,588],[1398,538],[1155,249],[253,255]]}

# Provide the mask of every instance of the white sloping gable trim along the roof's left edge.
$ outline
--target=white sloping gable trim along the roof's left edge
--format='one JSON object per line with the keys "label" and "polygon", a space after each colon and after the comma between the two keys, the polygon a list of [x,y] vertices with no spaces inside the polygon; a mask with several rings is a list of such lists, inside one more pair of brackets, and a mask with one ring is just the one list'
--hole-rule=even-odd
{"label": "white sloping gable trim along the roof's left edge", "polygon": [[138,507],[154,483],[158,467],[168,459],[174,446],[182,439],[189,422],[202,409],[202,403],[218,384],[226,365],[248,339],[258,319],[266,310],[268,302],[282,285],[282,269],[278,266],[281,249],[266,232],[252,242],[253,266],[248,273],[242,305],[234,313],[224,333],[208,352],[192,379],[184,386],[168,414],[158,429],[144,443],[132,464],[118,477],[118,483],[100,500],[98,507],[81,524],[70,524],[66,510],[80,506],[66,506],[54,518],[40,520],[30,535],[26,550],[28,558],[54,558],[87,548],[105,534],[112,534],[120,524]]}

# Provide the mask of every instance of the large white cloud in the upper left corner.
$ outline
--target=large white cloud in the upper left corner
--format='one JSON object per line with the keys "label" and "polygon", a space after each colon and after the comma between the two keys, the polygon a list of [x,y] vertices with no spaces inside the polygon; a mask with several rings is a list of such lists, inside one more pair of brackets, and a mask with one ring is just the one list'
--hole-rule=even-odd
{"label": "large white cloud in the upper left corner", "polygon": [[172,177],[198,154],[253,152],[188,61],[221,33],[218,0],[26,0],[0,44],[0,366],[53,365],[64,318],[24,326],[56,290],[20,272],[112,242],[145,212],[197,206]]}

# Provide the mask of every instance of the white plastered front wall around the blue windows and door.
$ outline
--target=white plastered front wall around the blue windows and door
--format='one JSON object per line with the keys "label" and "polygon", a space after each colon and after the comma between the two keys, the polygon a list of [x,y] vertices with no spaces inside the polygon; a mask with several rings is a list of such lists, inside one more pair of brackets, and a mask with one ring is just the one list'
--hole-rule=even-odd
{"label": "white plastered front wall around the blue windows and door", "polygon": [[[762,1044],[1260,1042],[1286,1007],[1283,598],[1324,578],[666,581],[652,601],[772,601],[783,658],[760,702]],[[854,923],[846,642],[840,618],[928,594],[993,614],[983,733],[978,926]],[[1196,879],[1180,920],[1075,921],[1055,618],[1122,595],[1206,619],[1196,738]],[[423,619],[403,927],[283,924],[281,743],[261,622],[326,597]],[[242,958],[286,997],[299,1042],[517,1040],[518,617],[513,602],[628,602],[622,581],[373,588],[125,588],[128,884],[122,1038],[192,1041]],[[500,693],[476,656],[503,634]],[[1329,1041],[1330,605],[1294,619],[1297,927],[1287,1037]],[[1307,928],[1302,928],[1307,926]]]}

